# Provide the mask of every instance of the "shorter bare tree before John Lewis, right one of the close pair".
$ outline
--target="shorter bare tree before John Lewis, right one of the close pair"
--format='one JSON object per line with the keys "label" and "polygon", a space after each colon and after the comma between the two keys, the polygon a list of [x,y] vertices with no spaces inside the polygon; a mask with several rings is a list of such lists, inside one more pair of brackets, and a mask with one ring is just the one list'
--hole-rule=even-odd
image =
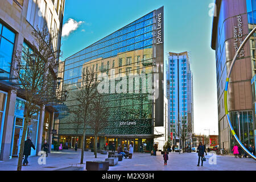
{"label": "shorter bare tree before John Lewis, right one of the close pair", "polygon": [[97,158],[97,143],[98,134],[108,126],[109,110],[106,106],[105,97],[103,94],[98,93],[94,98],[92,107],[90,108],[89,127],[94,134],[94,155]]}

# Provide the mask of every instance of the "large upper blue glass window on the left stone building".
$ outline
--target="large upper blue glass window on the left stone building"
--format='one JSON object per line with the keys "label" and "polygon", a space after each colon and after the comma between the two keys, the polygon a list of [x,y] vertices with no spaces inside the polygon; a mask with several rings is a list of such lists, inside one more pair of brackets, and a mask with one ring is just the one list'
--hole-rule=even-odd
{"label": "large upper blue glass window on the left stone building", "polygon": [[9,77],[15,34],[0,23],[0,75]]}

